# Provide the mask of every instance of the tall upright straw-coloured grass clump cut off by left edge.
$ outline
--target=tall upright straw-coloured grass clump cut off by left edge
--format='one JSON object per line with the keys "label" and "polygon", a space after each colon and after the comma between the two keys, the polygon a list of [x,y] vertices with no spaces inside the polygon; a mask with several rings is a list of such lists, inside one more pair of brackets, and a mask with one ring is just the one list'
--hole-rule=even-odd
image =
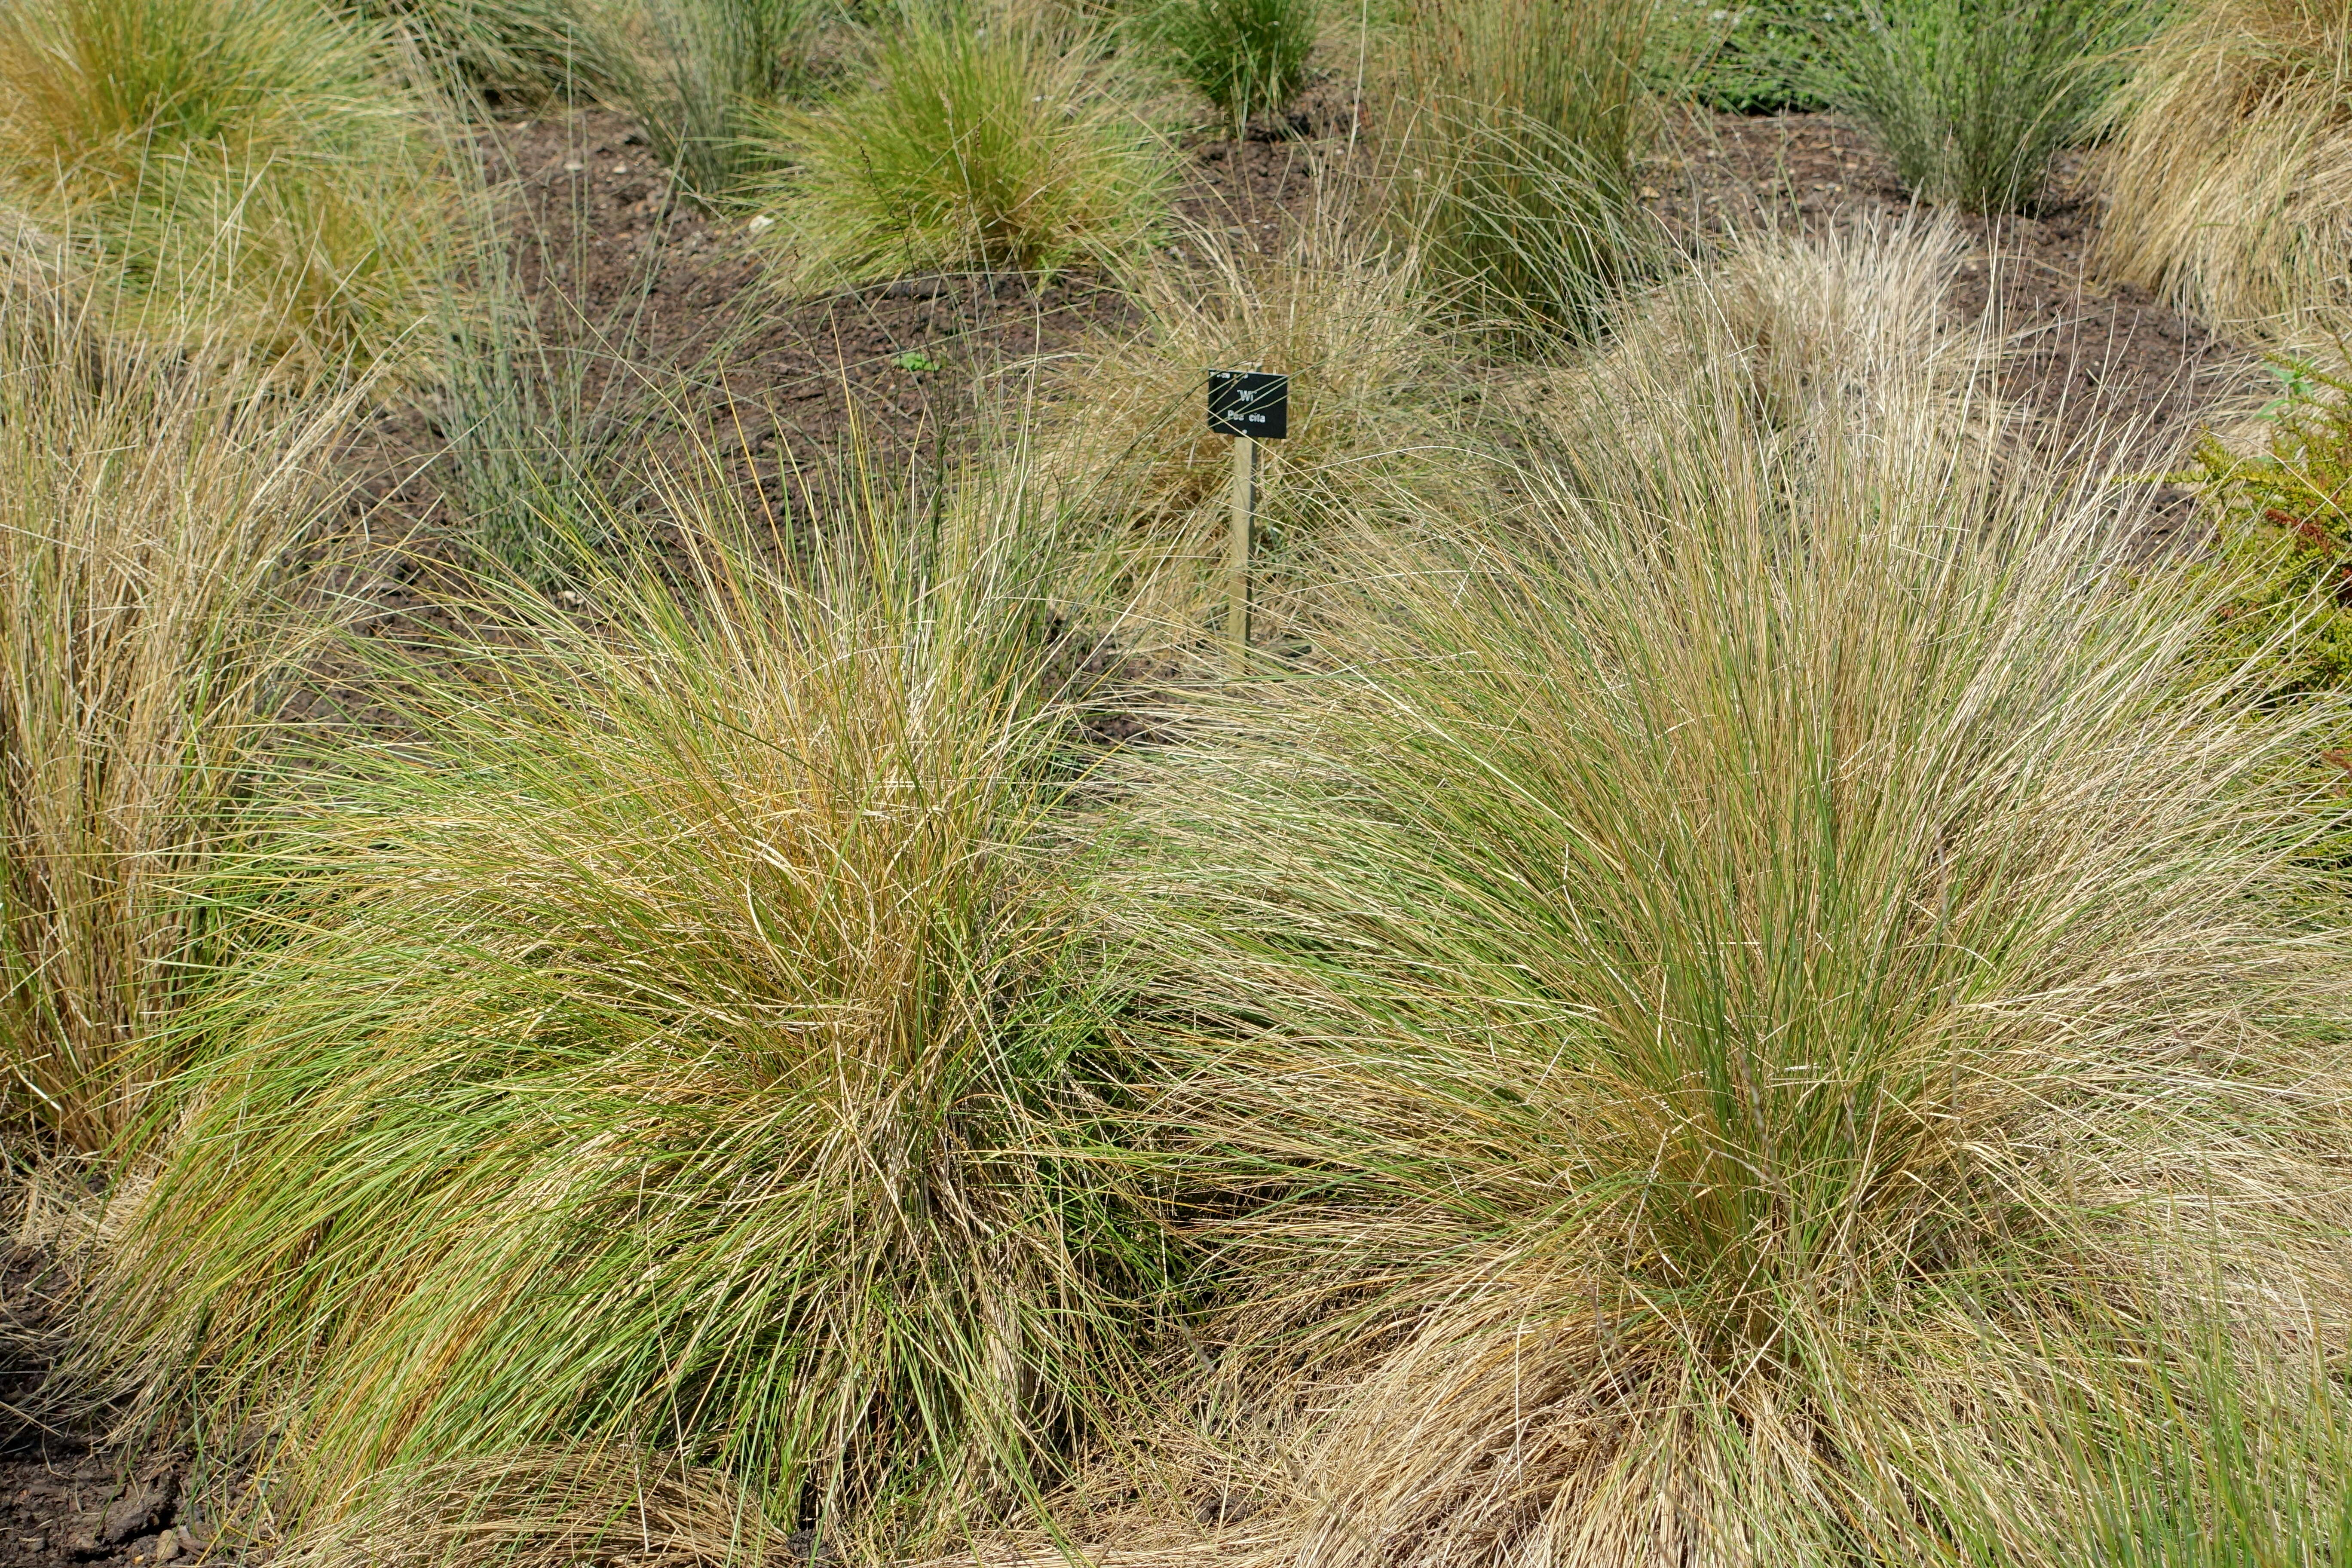
{"label": "tall upright straw-coloured grass clump cut off by left edge", "polygon": [[308,637],[292,550],[346,414],[0,284],[0,1053],[9,1114],[66,1145],[136,1119],[219,957],[205,875]]}

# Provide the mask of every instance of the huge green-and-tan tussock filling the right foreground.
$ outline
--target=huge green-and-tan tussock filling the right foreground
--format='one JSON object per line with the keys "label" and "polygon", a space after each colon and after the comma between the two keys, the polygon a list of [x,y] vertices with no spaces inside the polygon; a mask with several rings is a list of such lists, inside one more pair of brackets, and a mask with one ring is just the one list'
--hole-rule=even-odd
{"label": "huge green-and-tan tussock filling the right foreground", "polygon": [[[1865,418],[1677,435],[1510,534],[1367,541],[1322,672],[1136,759],[1155,1114],[1247,1199],[1197,1408],[1263,1422],[1181,1443],[1275,1476],[1261,1561],[2060,1563],[2126,1486],[2201,1519],[2234,1481],[2124,1345],[2201,1314],[2286,1387],[2347,1328],[2296,724],[2185,691],[2213,599],[2117,571],[2096,496]],[[2067,1474],[2058,1429],[2190,1458]]]}

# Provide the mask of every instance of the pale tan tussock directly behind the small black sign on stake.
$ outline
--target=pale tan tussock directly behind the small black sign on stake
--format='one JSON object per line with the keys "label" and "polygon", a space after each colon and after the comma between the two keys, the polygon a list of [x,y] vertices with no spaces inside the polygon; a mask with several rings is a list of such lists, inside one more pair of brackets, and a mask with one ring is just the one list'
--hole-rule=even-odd
{"label": "pale tan tussock directly behind the small black sign on stake", "polygon": [[[1207,433],[1207,371],[1289,371],[1289,437],[1263,442],[1254,623],[1312,621],[1334,534],[1411,527],[1437,496],[1477,487],[1444,402],[1451,343],[1411,259],[1381,254],[1322,212],[1272,259],[1188,235],[1192,266],[1141,270],[1143,327],[1061,371],[1033,461],[1084,534],[1084,592],[1131,649],[1197,644],[1223,614],[1232,437]],[[1207,280],[1204,280],[1207,273]]]}

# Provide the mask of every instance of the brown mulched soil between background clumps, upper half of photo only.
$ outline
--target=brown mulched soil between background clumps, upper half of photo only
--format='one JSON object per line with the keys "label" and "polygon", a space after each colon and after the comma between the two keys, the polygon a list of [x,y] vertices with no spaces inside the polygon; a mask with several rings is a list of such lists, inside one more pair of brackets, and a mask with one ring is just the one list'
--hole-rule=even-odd
{"label": "brown mulched soil between background clumps, upper half of photo only", "polygon": [[[1176,197],[1183,230],[1218,230],[1242,252],[1284,226],[1345,167],[1357,118],[1327,82],[1279,136],[1197,136]],[[1098,334],[1134,329],[1108,280],[931,275],[823,299],[781,299],[746,228],[684,200],[647,139],[619,113],[539,113],[485,129],[506,186],[517,277],[541,329],[588,355],[583,386],[602,418],[661,397],[691,440],[774,517],[826,510],[851,470],[880,494],[922,487],[953,463],[1007,376],[1051,364]],[[1686,244],[1766,226],[1818,230],[1900,219],[1915,205],[1891,165],[1837,115],[1689,113],[1668,127],[1642,195]],[[2065,160],[2025,216],[1959,223],[1973,242],[1955,289],[1959,320],[1987,313],[2009,341],[2002,393],[2084,465],[2161,473],[2201,418],[2239,388],[2256,355],[2089,261],[2098,219],[2082,158]],[[445,428],[423,407],[386,404],[350,451],[369,534],[409,536],[428,562],[447,534],[433,458]],[[2169,491],[2157,531],[2183,536],[2190,508]],[[416,574],[376,583],[388,611],[426,609]],[[426,588],[430,574],[426,574]]]}

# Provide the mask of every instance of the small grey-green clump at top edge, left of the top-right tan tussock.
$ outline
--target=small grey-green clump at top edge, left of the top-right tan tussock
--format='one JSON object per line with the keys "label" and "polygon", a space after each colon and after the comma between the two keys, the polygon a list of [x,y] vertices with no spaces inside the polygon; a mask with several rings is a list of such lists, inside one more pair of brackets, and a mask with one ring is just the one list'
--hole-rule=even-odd
{"label": "small grey-green clump at top edge, left of the top-right tan tussock", "polygon": [[1816,89],[1870,127],[1917,195],[2016,212],[2152,16],[2143,0],[1863,0],[1825,24]]}

